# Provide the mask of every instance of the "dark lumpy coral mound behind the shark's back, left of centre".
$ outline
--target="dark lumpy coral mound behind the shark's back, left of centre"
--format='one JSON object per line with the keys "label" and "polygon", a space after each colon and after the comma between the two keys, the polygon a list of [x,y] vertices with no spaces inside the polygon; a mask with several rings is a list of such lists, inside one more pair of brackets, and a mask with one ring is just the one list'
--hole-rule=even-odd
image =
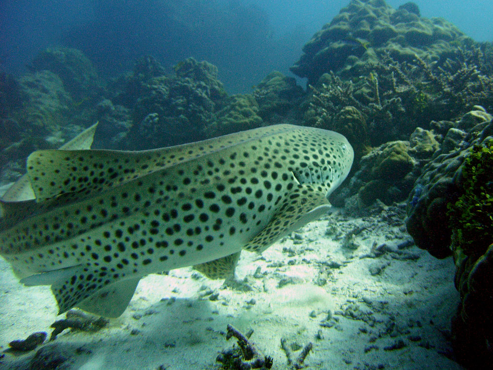
{"label": "dark lumpy coral mound behind the shark's back, left of centre", "polygon": [[126,149],[166,147],[207,138],[206,128],[214,121],[214,114],[227,104],[217,68],[188,58],[174,69],[176,75],[139,82],[139,97],[132,112],[134,124],[124,140]]}

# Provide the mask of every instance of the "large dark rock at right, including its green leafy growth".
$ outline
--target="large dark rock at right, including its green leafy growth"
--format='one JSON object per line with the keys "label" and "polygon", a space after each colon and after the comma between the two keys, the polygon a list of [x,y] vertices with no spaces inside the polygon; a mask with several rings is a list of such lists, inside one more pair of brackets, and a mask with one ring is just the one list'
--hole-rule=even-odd
{"label": "large dark rock at right, including its green leafy growth", "polygon": [[493,121],[477,131],[486,114],[471,111],[459,120],[466,131],[449,129],[446,150],[424,166],[409,195],[406,220],[418,247],[437,258],[454,257],[461,303],[452,340],[458,360],[472,368],[493,359]]}

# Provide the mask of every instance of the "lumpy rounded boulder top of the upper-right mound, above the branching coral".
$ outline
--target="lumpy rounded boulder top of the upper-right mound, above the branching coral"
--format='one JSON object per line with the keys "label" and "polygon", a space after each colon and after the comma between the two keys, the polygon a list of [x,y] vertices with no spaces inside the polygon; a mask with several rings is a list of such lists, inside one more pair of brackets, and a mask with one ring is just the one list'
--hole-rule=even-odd
{"label": "lumpy rounded boulder top of the upper-right mound, above the branching coral", "polygon": [[399,62],[412,62],[415,55],[445,61],[444,56],[458,51],[459,46],[449,44],[444,48],[444,41],[472,42],[466,39],[450,22],[421,18],[418,6],[412,2],[396,10],[381,0],[352,0],[305,44],[303,55],[291,71],[308,78],[310,84],[329,71],[345,69],[346,75],[357,76],[361,66],[356,62],[373,54],[366,62],[377,64],[375,57],[383,50]]}

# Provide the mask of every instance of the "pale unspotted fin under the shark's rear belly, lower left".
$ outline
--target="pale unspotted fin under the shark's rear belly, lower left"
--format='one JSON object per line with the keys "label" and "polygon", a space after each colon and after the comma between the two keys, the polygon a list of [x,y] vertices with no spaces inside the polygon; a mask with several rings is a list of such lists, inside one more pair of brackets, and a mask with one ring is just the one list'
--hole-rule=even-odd
{"label": "pale unspotted fin under the shark's rear belly, lower left", "polygon": [[98,293],[77,303],[77,307],[95,315],[115,318],[120,316],[134,296],[141,278],[132,278],[110,284]]}

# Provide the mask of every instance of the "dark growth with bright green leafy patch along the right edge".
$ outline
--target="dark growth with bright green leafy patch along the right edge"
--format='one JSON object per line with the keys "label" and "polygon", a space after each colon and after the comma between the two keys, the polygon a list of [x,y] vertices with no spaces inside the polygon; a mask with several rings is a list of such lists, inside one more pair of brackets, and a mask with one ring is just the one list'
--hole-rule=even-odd
{"label": "dark growth with bright green leafy patch along the right edge", "polygon": [[491,363],[493,348],[493,138],[474,145],[458,175],[458,200],[449,203],[451,250],[457,266],[456,287],[461,304],[453,319],[453,342],[459,359],[471,362],[472,348]]}

